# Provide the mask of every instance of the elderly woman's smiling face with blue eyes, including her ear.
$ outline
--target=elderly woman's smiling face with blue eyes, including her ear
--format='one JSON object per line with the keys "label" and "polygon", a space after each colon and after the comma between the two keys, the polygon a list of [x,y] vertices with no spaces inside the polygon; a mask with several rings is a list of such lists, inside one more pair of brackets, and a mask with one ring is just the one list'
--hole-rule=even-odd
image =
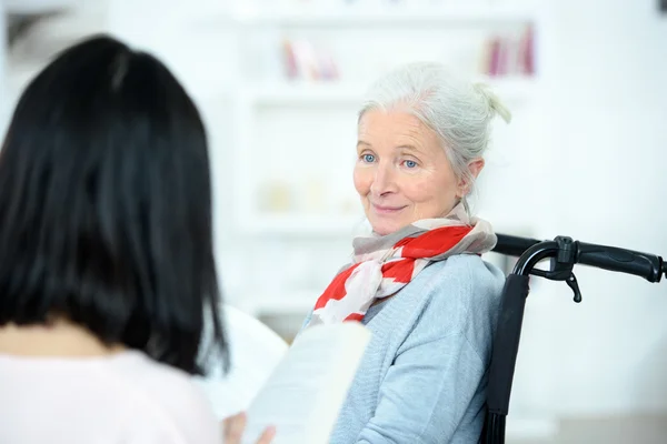
{"label": "elderly woman's smiling face with blue eyes, including her ear", "polygon": [[[466,193],[437,134],[406,112],[368,111],[358,128],[355,188],[374,231],[446,215]],[[484,161],[471,164],[477,175]]]}

